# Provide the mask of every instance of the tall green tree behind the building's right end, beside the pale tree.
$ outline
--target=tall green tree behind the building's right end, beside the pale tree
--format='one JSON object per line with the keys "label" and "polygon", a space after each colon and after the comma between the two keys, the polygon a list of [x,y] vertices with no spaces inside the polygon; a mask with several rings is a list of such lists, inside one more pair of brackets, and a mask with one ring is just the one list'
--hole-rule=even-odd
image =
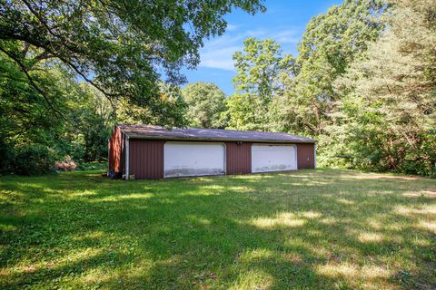
{"label": "tall green tree behind the building's right end, beside the pale tree", "polygon": [[311,19],[298,46],[297,75],[288,79],[278,106],[282,131],[326,133],[341,98],[332,84],[379,37],[386,9],[382,0],[345,0]]}

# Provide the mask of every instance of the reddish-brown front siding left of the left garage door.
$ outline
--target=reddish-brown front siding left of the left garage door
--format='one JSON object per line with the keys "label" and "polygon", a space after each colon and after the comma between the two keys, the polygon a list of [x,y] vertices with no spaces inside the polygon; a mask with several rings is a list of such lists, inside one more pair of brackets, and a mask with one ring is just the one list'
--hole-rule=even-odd
{"label": "reddish-brown front siding left of the left garage door", "polygon": [[163,179],[164,140],[129,140],[129,175],[134,179]]}

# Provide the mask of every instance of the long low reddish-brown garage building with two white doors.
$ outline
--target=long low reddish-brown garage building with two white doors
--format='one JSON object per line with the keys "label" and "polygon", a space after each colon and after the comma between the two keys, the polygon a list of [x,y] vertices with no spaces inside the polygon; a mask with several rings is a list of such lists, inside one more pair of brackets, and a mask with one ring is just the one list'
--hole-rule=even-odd
{"label": "long low reddish-brown garage building with two white doors", "polygon": [[119,124],[109,140],[109,171],[123,179],[313,169],[315,162],[315,140],[287,133]]}

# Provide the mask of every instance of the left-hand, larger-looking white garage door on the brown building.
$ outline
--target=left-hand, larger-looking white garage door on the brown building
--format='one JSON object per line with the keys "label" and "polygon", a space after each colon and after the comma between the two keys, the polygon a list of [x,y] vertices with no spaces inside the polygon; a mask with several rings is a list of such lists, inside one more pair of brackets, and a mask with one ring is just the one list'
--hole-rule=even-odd
{"label": "left-hand, larger-looking white garage door on the brown building", "polygon": [[218,143],[166,142],[163,177],[224,174],[224,145]]}

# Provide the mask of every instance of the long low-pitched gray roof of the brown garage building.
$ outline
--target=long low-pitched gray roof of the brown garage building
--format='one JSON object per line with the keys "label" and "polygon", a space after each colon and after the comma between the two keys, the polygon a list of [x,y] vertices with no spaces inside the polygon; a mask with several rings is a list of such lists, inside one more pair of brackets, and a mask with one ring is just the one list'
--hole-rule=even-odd
{"label": "long low-pitched gray roof of the brown garage building", "polygon": [[288,133],[263,131],[235,131],[223,129],[172,129],[160,126],[119,124],[118,127],[129,136],[137,139],[164,140],[216,140],[216,141],[253,141],[253,142],[283,142],[283,143],[314,143],[310,138],[295,136]]}

